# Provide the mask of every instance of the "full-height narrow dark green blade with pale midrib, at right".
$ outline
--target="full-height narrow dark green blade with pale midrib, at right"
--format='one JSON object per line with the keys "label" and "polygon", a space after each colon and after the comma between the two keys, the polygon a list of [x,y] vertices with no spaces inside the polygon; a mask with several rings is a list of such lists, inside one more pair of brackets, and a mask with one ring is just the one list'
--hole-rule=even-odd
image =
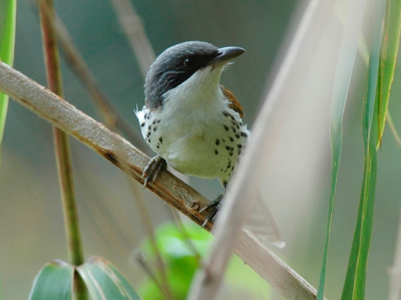
{"label": "full-height narrow dark green blade with pale midrib, at right", "polygon": [[373,227],[374,192],[376,186],[376,149],[375,139],[372,138],[372,122],[375,103],[377,103],[377,84],[380,78],[379,60],[384,3],[376,1],[374,12],[367,92],[362,121],[364,146],[363,181],[348,269],[342,290],[342,300],[360,300],[364,298],[367,258]]}

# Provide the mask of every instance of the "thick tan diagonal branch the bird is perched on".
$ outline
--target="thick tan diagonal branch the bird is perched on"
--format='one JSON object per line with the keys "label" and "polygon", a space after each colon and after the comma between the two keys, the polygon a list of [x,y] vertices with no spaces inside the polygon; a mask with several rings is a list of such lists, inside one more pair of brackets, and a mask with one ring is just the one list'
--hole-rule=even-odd
{"label": "thick tan diagonal branch the bird is perched on", "polygon": [[[0,62],[0,91],[41,118],[59,127],[143,184],[142,170],[149,158],[118,134],[76,109],[27,76]],[[116,153],[120,154],[119,156]],[[170,172],[162,172],[148,188],[193,222],[201,225],[206,213],[198,210],[208,200]],[[207,224],[207,230],[212,226]],[[315,299],[316,289],[243,229],[237,254],[262,278],[289,298]],[[269,265],[269,267],[266,267]],[[283,284],[286,282],[286,284]]]}

